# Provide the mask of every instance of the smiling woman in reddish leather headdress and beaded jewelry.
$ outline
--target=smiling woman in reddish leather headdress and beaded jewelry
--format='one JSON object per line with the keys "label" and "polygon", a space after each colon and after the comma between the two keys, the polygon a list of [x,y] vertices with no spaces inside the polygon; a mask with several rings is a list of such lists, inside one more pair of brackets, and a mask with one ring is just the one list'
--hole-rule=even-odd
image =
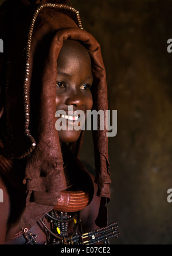
{"label": "smiling woman in reddish leather headdress and beaded jewelry", "polygon": [[[69,128],[79,110],[107,110],[105,69],[79,13],[59,2],[1,6],[1,244],[78,244],[107,225],[107,131],[93,131],[93,178],[79,161],[83,131]],[[56,130],[59,118],[66,130]]]}

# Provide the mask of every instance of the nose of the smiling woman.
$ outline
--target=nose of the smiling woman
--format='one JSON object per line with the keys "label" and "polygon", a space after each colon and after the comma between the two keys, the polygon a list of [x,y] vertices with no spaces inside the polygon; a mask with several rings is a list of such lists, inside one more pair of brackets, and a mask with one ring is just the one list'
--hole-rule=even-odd
{"label": "nose of the smiling woman", "polygon": [[84,106],[84,98],[81,92],[69,92],[69,95],[65,101],[67,106],[81,107]]}

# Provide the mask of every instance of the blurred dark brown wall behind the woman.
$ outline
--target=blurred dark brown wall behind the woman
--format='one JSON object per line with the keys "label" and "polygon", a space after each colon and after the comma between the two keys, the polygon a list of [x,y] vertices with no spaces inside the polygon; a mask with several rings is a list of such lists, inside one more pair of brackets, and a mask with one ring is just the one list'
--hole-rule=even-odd
{"label": "blurred dark brown wall behind the woman", "polygon": [[[101,44],[109,110],[118,111],[118,134],[109,148],[108,213],[121,235],[111,244],[172,244],[172,1],[72,2]],[[81,159],[94,168],[89,132]]]}

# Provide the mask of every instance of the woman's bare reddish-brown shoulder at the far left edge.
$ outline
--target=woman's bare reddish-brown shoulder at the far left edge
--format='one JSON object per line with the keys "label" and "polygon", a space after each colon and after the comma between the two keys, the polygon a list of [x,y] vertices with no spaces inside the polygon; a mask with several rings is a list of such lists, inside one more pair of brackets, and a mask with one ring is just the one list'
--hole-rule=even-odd
{"label": "woman's bare reddish-brown shoulder at the far left edge", "polygon": [[5,182],[0,175],[0,244],[5,243],[7,223],[10,213],[10,199]]}

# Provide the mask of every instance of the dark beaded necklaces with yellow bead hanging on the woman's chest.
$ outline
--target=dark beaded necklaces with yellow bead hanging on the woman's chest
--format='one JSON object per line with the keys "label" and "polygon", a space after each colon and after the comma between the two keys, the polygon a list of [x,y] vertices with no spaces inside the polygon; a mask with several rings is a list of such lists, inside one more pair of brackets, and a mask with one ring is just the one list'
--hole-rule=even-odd
{"label": "dark beaded necklaces with yellow bead hanging on the woman's chest", "polygon": [[[48,228],[50,223],[50,228]],[[46,234],[44,244],[83,244],[83,230],[79,212],[67,213],[50,211],[38,224],[42,225]],[[27,228],[24,229],[25,244],[37,244],[37,235],[33,235]]]}

